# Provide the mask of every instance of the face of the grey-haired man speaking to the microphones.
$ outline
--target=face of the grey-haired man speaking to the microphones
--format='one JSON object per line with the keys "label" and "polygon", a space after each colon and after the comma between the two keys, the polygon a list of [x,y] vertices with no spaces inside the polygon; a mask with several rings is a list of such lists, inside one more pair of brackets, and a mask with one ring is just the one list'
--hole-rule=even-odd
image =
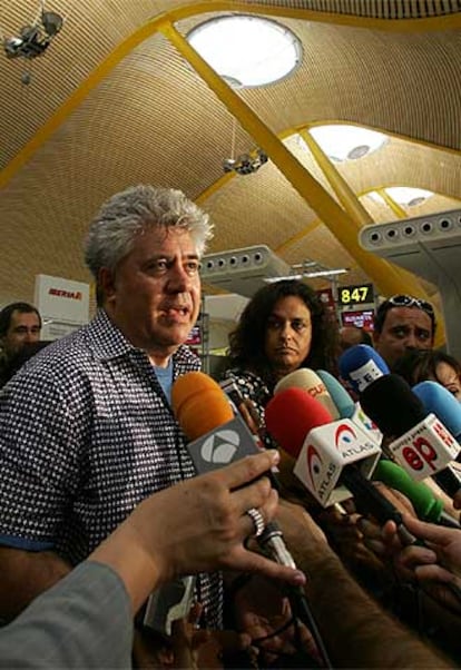
{"label": "face of the grey-haired man speaking to the microphones", "polygon": [[189,233],[147,229],[114,275],[101,270],[106,308],[124,335],[165,364],[183,344],[200,307],[199,262]]}

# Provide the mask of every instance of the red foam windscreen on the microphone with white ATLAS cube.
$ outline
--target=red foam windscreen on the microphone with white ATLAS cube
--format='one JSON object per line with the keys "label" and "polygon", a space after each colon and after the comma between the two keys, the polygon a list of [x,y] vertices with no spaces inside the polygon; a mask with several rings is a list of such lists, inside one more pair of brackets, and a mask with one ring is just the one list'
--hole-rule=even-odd
{"label": "red foam windscreen on the microphone with white ATLAS cube", "polygon": [[267,403],[265,421],[277,444],[297,459],[307,433],[330,423],[332,417],[304,388],[286,388]]}

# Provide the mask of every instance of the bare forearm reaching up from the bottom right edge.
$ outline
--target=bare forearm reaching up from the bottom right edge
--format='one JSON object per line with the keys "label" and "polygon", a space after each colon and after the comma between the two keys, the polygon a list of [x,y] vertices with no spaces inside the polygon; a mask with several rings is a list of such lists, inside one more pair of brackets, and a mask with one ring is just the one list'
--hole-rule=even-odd
{"label": "bare forearm reaching up from the bottom right edge", "polygon": [[295,560],[306,572],[306,593],[335,667],[450,667],[384,613],[328,548],[306,544]]}

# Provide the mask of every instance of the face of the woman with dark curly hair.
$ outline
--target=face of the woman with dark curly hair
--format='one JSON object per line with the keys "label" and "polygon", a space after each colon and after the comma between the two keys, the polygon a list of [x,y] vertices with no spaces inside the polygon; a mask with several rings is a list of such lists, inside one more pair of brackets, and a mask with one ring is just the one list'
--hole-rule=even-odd
{"label": "face of the woman with dark curly hair", "polygon": [[264,351],[277,377],[297,370],[311,351],[311,311],[297,296],[281,298],[267,321]]}

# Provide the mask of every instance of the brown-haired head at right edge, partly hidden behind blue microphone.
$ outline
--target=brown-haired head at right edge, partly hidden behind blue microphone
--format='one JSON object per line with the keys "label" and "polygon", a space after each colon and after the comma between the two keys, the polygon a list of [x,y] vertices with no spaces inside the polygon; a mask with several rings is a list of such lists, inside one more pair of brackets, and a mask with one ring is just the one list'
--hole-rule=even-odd
{"label": "brown-haired head at right edge, partly hidden behind blue microphone", "polygon": [[444,352],[411,351],[399,358],[393,372],[414,386],[430,380],[438,382],[461,402],[461,364]]}

